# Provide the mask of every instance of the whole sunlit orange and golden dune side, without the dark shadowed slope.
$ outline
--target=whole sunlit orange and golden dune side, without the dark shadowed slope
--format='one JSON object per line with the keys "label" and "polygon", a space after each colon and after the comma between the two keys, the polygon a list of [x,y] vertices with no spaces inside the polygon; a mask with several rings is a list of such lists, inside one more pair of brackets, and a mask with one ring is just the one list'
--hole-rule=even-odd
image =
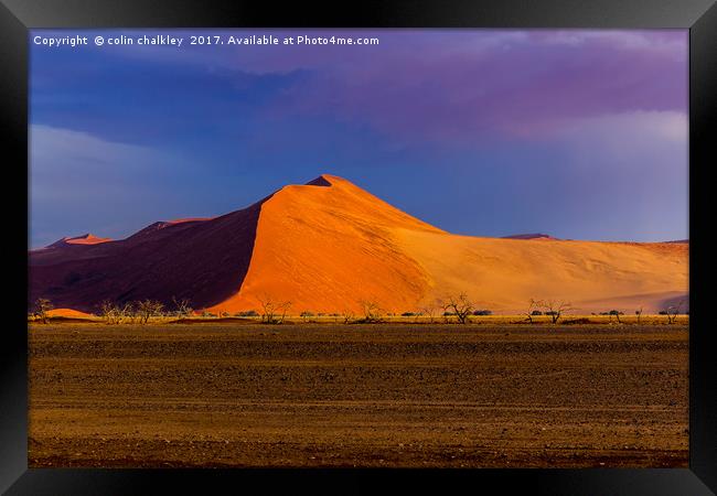
{"label": "whole sunlit orange and golden dune side, without the dark shadowed slope", "polygon": [[688,289],[685,245],[457,236],[322,177],[325,187],[287,186],[263,205],[246,279],[214,310],[256,309],[269,296],[296,312],[357,311],[360,300],[402,312],[465,292],[504,313],[531,298],[627,309],[634,295],[654,311],[662,293]]}

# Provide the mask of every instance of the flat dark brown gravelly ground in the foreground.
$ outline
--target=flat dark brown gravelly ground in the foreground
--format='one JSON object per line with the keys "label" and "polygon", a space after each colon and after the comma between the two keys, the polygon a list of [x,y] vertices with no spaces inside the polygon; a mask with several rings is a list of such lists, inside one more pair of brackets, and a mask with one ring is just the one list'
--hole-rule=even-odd
{"label": "flat dark brown gravelly ground in the foreground", "polygon": [[30,328],[31,466],[687,466],[686,326]]}

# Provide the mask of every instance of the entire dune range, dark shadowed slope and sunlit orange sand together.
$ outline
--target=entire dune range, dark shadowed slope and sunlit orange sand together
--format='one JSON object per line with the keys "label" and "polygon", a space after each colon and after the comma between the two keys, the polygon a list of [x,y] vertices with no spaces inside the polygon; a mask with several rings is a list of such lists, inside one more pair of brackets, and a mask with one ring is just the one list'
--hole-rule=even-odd
{"label": "entire dune range, dark shadowed slope and sunlit orange sand together", "polygon": [[458,236],[333,175],[224,216],[92,239],[30,252],[31,301],[92,311],[105,299],[176,296],[237,312],[268,298],[291,301],[293,313],[341,313],[365,300],[404,312],[465,292],[496,313],[524,311],[531,298],[651,312],[688,292],[687,242]]}

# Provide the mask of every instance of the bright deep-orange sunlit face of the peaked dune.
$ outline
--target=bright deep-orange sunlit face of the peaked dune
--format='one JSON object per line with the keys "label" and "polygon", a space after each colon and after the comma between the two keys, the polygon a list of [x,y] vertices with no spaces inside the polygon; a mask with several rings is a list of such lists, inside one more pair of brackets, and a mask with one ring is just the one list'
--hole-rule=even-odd
{"label": "bright deep-orange sunlit face of the peaked dune", "polygon": [[[261,206],[240,291],[213,310],[291,301],[296,311],[357,311],[361,300],[409,309],[429,279],[397,245],[396,228],[442,233],[340,177],[286,186]],[[314,182],[315,184],[315,182]]]}

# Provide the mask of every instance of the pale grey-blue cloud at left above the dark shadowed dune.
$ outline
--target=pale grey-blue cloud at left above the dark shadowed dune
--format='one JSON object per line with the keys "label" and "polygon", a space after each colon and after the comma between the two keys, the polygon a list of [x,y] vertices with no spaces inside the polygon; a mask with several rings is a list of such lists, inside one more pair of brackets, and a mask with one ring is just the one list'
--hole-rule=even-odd
{"label": "pale grey-blue cloud at left above the dark shadowed dune", "polygon": [[128,234],[128,226],[136,229],[172,204],[171,192],[160,186],[180,164],[151,148],[32,125],[31,246],[88,230]]}

